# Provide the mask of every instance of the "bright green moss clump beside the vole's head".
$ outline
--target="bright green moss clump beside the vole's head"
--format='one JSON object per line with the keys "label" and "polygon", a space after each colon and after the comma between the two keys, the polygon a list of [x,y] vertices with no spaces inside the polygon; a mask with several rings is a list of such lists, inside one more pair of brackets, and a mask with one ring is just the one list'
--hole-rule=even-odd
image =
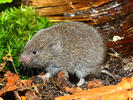
{"label": "bright green moss clump beside the vole's head", "polygon": [[[0,63],[2,58],[11,53],[19,72],[18,60],[25,43],[40,29],[51,26],[48,18],[38,16],[37,11],[28,6],[8,8],[0,14]],[[5,69],[14,70],[11,63]]]}

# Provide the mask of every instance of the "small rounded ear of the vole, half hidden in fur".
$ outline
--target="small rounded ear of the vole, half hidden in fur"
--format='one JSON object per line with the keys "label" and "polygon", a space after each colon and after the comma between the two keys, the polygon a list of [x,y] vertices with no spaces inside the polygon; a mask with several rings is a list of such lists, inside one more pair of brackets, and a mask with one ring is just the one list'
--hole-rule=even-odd
{"label": "small rounded ear of the vole, half hidden in fur", "polygon": [[55,38],[51,40],[50,47],[52,51],[61,51],[62,50],[62,42],[61,40]]}

